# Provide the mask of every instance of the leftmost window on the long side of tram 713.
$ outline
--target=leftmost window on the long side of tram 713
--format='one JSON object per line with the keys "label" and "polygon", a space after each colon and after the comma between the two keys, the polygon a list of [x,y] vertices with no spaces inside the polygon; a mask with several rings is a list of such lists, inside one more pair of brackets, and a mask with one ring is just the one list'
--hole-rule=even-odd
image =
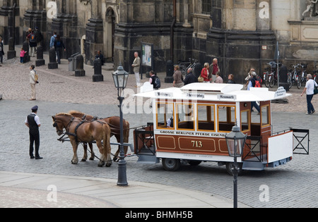
{"label": "leftmost window on the long side of tram 713", "polygon": [[[167,120],[168,119],[173,120],[173,110],[174,109],[173,109],[172,103],[157,104],[157,128],[167,128]],[[170,125],[170,128],[172,127],[173,127],[173,122],[172,122],[172,125]]]}

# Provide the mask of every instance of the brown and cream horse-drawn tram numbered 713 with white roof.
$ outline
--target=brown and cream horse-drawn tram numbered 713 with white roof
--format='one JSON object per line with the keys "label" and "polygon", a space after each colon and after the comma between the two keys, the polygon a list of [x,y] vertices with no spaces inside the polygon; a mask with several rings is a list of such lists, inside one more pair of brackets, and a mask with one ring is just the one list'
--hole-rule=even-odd
{"label": "brown and cream horse-drawn tram numbered 713 with white roof", "polygon": [[[182,162],[198,165],[216,161],[232,173],[233,158],[225,140],[237,123],[247,135],[240,170],[264,170],[293,158],[295,149],[309,149],[309,130],[288,129],[272,132],[271,101],[290,96],[283,87],[242,90],[238,84],[192,83],[182,88],[151,90],[135,97],[151,98],[153,123],[134,130],[134,152],[142,163],[159,163],[167,171],[176,171]],[[251,109],[259,101],[260,112]],[[306,133],[305,137],[295,133]],[[301,137],[301,138],[300,138]],[[298,144],[293,148],[294,140]],[[306,145],[305,145],[306,146]]]}

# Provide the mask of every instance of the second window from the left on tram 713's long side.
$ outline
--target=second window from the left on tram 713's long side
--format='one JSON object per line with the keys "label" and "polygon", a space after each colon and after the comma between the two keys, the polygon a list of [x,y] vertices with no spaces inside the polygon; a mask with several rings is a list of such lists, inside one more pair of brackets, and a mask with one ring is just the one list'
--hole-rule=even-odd
{"label": "second window from the left on tram 713's long side", "polygon": [[177,104],[177,129],[194,130],[194,110],[192,104]]}

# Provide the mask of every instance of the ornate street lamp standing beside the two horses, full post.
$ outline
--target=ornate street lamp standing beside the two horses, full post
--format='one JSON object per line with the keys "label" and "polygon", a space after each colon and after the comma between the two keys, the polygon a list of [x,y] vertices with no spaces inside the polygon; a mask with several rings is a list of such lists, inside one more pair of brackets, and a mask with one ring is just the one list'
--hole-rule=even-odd
{"label": "ornate street lamp standing beside the two horses, full post", "polygon": [[114,79],[114,85],[117,88],[117,95],[119,100],[119,111],[120,111],[120,144],[119,144],[119,161],[118,161],[118,180],[117,185],[126,186],[127,177],[126,177],[126,160],[124,153],[124,129],[123,129],[123,117],[122,117],[122,101],[124,100],[124,88],[127,85],[129,73],[127,73],[122,64],[119,63],[117,70],[112,73],[112,78]]}

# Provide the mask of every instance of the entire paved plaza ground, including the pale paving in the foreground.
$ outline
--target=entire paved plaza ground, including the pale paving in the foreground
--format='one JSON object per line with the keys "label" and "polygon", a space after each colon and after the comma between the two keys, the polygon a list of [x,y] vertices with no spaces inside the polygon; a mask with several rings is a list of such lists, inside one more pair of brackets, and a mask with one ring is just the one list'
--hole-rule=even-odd
{"label": "entire paved plaza ground, including the pale paving in the foreground", "polygon": [[[42,198],[42,201],[43,198],[45,199],[43,204],[40,204],[43,207],[76,207],[83,206],[83,203],[87,203],[87,207],[232,206],[232,176],[228,175],[225,166],[218,166],[213,162],[202,163],[199,166],[183,165],[177,172],[167,172],[163,170],[161,164],[143,165],[136,162],[136,156],[126,157],[128,187],[116,186],[117,163],[113,163],[109,168],[99,168],[98,159],[95,159],[72,165],[71,144],[57,141],[59,137],[52,127],[52,116],[70,110],[99,117],[118,116],[119,102],[112,72],[103,70],[104,82],[93,82],[91,66],[84,66],[86,76],[80,78],[68,71],[67,60],[62,60],[57,70],[49,70],[47,65],[37,67],[35,70],[40,78],[40,84],[37,85],[37,101],[28,101],[30,99],[28,67],[35,59],[31,58],[30,63],[19,64],[18,58],[10,61],[5,58],[3,66],[0,67],[0,94],[3,97],[0,101],[2,148],[0,206],[6,207],[6,203],[8,207],[18,206],[15,205],[18,201],[15,202],[14,199],[8,202],[7,197],[4,196],[4,193],[8,192],[13,197],[24,199],[30,206],[36,206],[37,201],[40,204],[40,200],[32,195],[33,192],[37,192],[38,198]],[[47,55],[45,59],[48,63]],[[162,87],[172,86],[164,83],[164,75],[160,74],[160,78],[163,82]],[[146,80],[148,79],[144,79],[143,82]],[[147,113],[148,104],[137,104],[136,108],[131,108],[132,104],[136,104],[136,101],[130,97],[137,92],[134,85],[134,75],[130,75],[125,90],[127,99],[124,102],[124,118],[129,121],[131,127],[146,124],[153,119],[152,114]],[[302,89],[298,90],[293,86],[290,90],[292,97],[288,97],[288,104],[273,104],[273,132],[290,127],[310,129],[310,155],[295,154],[288,164],[277,168],[266,168],[265,171],[245,171],[238,178],[239,206],[268,208],[318,206],[316,168],[318,114],[305,115],[306,98],[300,97],[301,92]],[[318,106],[315,97],[313,104]],[[42,160],[30,159],[28,156],[29,137],[24,120],[34,105],[39,106],[38,116],[42,123],[40,128]],[[139,113],[143,109],[146,113]],[[129,140],[133,142],[132,130]],[[114,138],[111,142],[115,142]],[[112,153],[116,150],[117,147],[112,146]],[[98,153],[97,147],[95,152]],[[81,159],[81,156],[83,149],[80,147],[78,157]],[[74,184],[75,187],[70,187]],[[49,194],[47,189],[50,185],[53,188],[57,187],[59,191],[57,203],[47,200]],[[268,199],[262,198],[264,187],[267,189]],[[175,202],[173,202],[174,197]],[[22,204],[22,207],[25,206]]]}

